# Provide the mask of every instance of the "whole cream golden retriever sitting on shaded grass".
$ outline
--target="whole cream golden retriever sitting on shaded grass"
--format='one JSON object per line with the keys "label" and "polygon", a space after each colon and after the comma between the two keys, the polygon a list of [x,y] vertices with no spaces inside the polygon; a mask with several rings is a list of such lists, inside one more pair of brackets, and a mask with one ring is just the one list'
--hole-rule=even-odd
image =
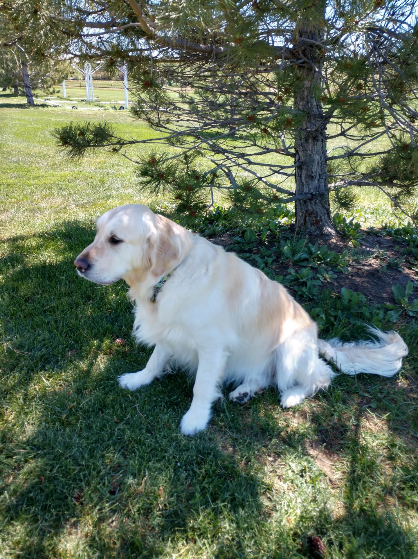
{"label": "whole cream golden retriever sitting on shaded grass", "polygon": [[196,374],[180,424],[185,435],[206,428],[221,382],[235,384],[235,402],[276,386],[289,408],[330,385],[327,361],[348,375],[390,377],[408,352],[399,334],[377,328],[369,330],[378,341],[318,339],[316,324],[282,285],[139,204],[99,217],[96,237],[74,264],[94,283],[125,280],[134,336],[154,346],[143,371],[118,378],[123,388],[148,385],[174,363]]}

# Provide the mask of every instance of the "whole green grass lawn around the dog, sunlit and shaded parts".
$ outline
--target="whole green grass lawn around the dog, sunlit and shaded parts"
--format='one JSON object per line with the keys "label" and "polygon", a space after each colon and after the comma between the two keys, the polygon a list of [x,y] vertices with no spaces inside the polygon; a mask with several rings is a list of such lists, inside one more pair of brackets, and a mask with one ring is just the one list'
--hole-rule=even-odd
{"label": "whole green grass lawn around the dog, sunlit and shaded parts", "polygon": [[[411,348],[395,378],[340,375],[289,410],[274,390],[225,400],[184,437],[193,381],[120,389],[150,354],[131,338],[126,287],[73,266],[99,214],[164,201],[122,157],[64,158],[50,131],[85,114],[23,107],[0,96],[0,557],[288,559],[310,557],[310,535],[327,558],[417,557],[416,319],[395,324]],[[88,113],[103,116],[152,137],[124,111]],[[365,190],[359,211],[393,219]],[[307,303],[324,309],[323,337],[364,337],[341,305],[329,292]]]}

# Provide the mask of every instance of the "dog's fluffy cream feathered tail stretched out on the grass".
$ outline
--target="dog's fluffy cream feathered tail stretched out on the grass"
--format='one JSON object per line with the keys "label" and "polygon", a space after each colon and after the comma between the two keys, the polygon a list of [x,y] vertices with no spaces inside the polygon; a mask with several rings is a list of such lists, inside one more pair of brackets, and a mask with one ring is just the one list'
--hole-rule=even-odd
{"label": "dog's fluffy cream feathered tail stretched out on the grass", "polygon": [[406,343],[395,331],[382,332],[368,326],[378,340],[343,343],[338,338],[318,340],[321,357],[332,361],[346,375],[370,373],[392,377],[402,367],[402,358],[408,354]]}

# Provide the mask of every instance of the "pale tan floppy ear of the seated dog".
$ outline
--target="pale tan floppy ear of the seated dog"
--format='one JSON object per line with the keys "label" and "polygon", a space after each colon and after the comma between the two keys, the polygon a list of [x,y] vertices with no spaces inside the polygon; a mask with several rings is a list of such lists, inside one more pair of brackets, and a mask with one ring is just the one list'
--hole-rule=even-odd
{"label": "pale tan floppy ear of the seated dog", "polygon": [[172,222],[162,215],[156,215],[155,235],[148,239],[149,264],[153,276],[160,278],[179,259],[181,247]]}

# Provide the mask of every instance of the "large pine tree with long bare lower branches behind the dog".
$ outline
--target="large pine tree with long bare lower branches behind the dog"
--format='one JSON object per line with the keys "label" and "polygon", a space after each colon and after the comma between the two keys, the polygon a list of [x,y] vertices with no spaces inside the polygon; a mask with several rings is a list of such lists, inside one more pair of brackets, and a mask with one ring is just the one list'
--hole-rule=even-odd
{"label": "large pine tree with long bare lower branches behind the dog", "polygon": [[295,202],[298,227],[333,235],[330,193],[347,207],[355,186],[414,217],[414,1],[92,0],[41,12],[51,33],[71,37],[60,49],[108,70],[127,64],[132,113],[161,132],[149,151],[149,139],[106,123],[64,126],[56,136],[70,155],[130,157],[141,145],[143,187],[169,193],[191,218],[221,189],[254,214]]}

